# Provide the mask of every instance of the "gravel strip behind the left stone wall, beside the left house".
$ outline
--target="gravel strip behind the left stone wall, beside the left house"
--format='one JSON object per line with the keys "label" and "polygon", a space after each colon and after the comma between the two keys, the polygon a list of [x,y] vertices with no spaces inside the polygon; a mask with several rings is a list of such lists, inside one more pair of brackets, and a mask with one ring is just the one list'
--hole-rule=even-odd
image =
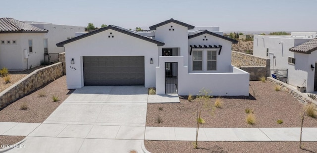
{"label": "gravel strip behind the left stone wall, beside the left house", "polygon": [[14,83],[18,82],[19,80],[21,80],[22,78],[24,78],[28,74],[32,73],[34,70],[45,67],[45,66],[47,66],[47,65],[33,67],[31,69],[24,70],[24,71],[9,71],[10,83],[6,84],[3,80],[3,78],[1,77],[0,78],[0,92],[3,91],[4,89],[10,87]]}

